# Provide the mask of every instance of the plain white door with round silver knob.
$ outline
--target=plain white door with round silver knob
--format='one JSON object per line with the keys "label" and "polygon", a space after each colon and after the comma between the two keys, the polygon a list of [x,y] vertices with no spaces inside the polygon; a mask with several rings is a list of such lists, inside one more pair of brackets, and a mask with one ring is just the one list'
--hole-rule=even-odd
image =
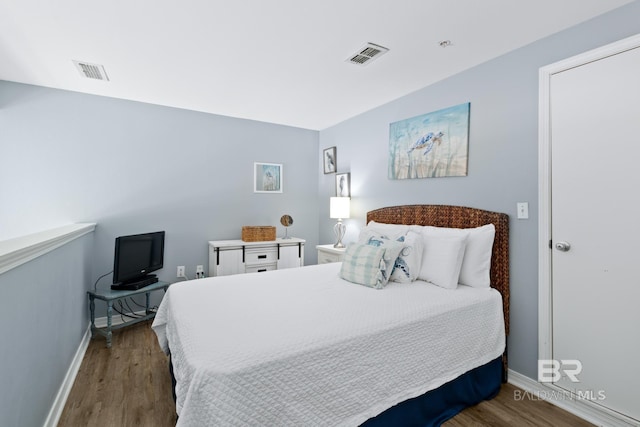
{"label": "plain white door with round silver knob", "polygon": [[556,385],[640,420],[640,48],[549,93],[552,355],[582,364]]}

